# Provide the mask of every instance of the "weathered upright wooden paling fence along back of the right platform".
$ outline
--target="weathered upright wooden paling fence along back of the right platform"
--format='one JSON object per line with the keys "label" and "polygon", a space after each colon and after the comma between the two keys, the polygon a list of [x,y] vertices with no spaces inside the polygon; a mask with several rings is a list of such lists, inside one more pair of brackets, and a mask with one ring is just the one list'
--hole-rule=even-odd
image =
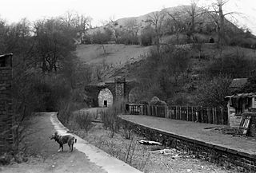
{"label": "weathered upright wooden paling fence along back of the right platform", "polygon": [[129,110],[133,115],[158,116],[206,124],[228,124],[227,108],[129,104]]}

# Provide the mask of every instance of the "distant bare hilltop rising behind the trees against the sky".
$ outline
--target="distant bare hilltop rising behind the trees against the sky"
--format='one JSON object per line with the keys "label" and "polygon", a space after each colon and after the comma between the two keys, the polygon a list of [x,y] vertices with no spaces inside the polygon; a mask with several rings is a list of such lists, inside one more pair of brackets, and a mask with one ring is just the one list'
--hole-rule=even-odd
{"label": "distant bare hilltop rising behind the trees against the sky", "polygon": [[[130,18],[119,18],[115,21],[112,21],[114,23],[106,24],[104,26],[100,26],[94,29],[86,30],[87,34],[93,34],[96,33],[98,30],[101,32],[104,31],[106,28],[110,27],[111,29],[114,29],[115,31],[122,31],[122,30],[130,30],[131,28],[138,29],[138,35],[142,33],[142,30],[146,28],[146,26],[152,26],[154,27],[154,23],[150,23],[150,20],[158,20],[158,24],[162,21],[167,21],[168,19],[175,20],[176,22],[179,22],[179,25],[182,25],[182,27],[190,27],[191,23],[191,6],[174,6],[169,8],[164,8],[159,11],[150,12],[148,14],[144,14],[138,17],[130,17]],[[197,32],[206,32],[207,29],[210,29],[215,32],[217,26],[216,26],[216,20],[218,18],[217,14],[210,14],[209,11],[204,10],[201,7],[195,8],[195,14],[194,14],[194,23],[195,23],[195,29]],[[166,27],[165,24],[160,24],[163,27]],[[174,26],[175,27],[175,26]],[[168,29],[167,29],[168,30]],[[168,32],[168,31],[165,32]],[[241,32],[240,29],[238,29],[238,26],[235,26],[232,22],[226,20],[226,30],[232,30],[235,32]],[[208,32],[208,31],[207,31]],[[165,33],[164,33],[165,34]]]}

